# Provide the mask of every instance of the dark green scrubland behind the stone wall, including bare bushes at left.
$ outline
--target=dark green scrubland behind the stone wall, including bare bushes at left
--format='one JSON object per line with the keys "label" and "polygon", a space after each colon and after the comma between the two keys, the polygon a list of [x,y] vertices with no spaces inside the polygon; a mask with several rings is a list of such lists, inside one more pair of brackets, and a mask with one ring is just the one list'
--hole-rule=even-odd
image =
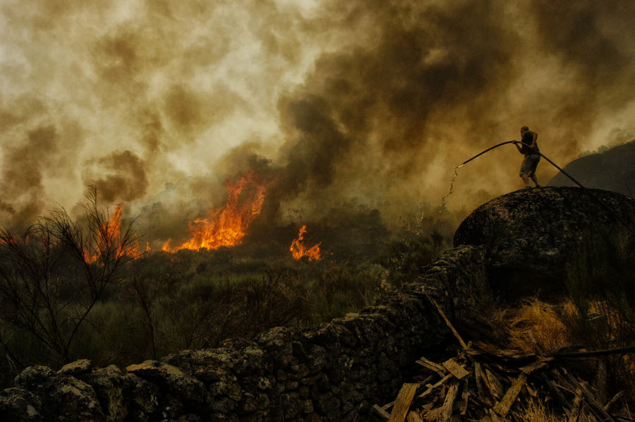
{"label": "dark green scrubland behind the stone wall, including bare bushes at left", "polygon": [[219,346],[279,325],[308,327],[371,305],[447,247],[424,224],[356,260],[249,256],[249,248],[140,253],[140,236],[96,195],[18,236],[0,231],[0,363],[7,386],[35,363],[127,366]]}

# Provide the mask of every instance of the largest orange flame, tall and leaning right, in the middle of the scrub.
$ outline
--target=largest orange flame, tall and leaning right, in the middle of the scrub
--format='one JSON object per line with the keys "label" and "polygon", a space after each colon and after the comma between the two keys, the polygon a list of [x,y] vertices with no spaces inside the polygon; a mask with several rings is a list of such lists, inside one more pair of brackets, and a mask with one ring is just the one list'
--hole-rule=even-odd
{"label": "largest orange flame, tall and leaning right, in the middle of the scrub", "polygon": [[[191,238],[179,246],[172,247],[171,239],[162,246],[164,252],[176,252],[182,249],[198,251],[218,249],[222,246],[236,246],[243,241],[247,227],[260,214],[265,202],[265,183],[258,183],[254,171],[241,176],[236,183],[227,178],[227,203],[224,207],[210,208],[207,216],[190,223]],[[247,189],[250,187],[250,189]],[[241,193],[248,198],[241,198]],[[241,200],[242,199],[242,200]]]}

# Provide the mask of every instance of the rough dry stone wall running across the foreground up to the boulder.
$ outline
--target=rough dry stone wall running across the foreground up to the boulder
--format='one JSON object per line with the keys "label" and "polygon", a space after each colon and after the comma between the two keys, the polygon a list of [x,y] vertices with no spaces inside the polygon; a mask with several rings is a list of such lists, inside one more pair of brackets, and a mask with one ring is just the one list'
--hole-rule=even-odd
{"label": "rough dry stone wall running across the foreground up to the boulder", "polygon": [[186,350],[126,370],[32,366],[0,392],[2,421],[353,421],[401,385],[451,320],[490,294],[485,250],[447,251],[397,294],[309,330]]}

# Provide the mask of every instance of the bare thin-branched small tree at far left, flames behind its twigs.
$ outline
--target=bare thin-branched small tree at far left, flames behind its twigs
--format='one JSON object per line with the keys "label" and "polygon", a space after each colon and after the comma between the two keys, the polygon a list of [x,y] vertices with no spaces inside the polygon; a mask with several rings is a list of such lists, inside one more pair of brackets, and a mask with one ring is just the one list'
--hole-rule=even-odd
{"label": "bare thin-branched small tree at far left, flames behind its twigs", "polygon": [[71,361],[73,339],[121,266],[135,258],[132,222],[109,216],[90,188],[85,223],[66,210],[40,217],[23,236],[0,229],[0,319],[39,339],[61,361]]}

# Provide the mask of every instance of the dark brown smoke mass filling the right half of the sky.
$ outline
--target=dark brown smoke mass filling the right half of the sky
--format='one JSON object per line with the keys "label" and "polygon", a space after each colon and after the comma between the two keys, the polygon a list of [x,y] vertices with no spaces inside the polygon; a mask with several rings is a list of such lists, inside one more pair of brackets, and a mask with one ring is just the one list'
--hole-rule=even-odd
{"label": "dark brown smoke mass filling the right half of the sky", "polygon": [[[358,198],[397,218],[438,201],[453,164],[518,138],[525,124],[546,154],[566,163],[607,116],[632,107],[635,50],[624,35],[633,8],[330,2],[329,13],[340,13],[319,18],[329,30],[373,30],[322,55],[302,87],[280,100],[282,200],[320,215],[325,204]],[[450,205],[464,214],[518,188],[519,162],[508,149],[462,169]],[[555,174],[547,164],[541,170],[543,179]]]}

